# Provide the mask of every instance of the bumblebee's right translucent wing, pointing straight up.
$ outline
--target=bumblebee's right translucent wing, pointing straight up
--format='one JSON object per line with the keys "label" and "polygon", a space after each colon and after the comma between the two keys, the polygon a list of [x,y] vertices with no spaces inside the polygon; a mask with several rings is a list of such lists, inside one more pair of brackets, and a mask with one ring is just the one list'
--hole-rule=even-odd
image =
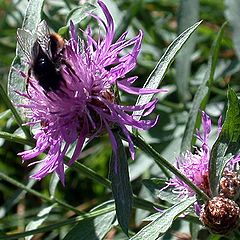
{"label": "bumblebee's right translucent wing, pointing straight up", "polygon": [[37,26],[37,41],[43,52],[51,59],[50,51],[50,31],[45,20],[42,20]]}

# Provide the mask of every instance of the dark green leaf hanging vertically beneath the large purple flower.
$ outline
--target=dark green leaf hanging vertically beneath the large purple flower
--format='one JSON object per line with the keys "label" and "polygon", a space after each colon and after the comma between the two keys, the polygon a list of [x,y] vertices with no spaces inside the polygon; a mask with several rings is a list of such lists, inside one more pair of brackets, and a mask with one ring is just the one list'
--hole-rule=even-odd
{"label": "dark green leaf hanging vertically beneath the large purple flower", "polygon": [[128,223],[132,210],[132,187],[129,179],[128,162],[122,140],[116,131],[113,132],[117,143],[117,152],[112,154],[109,178],[112,181],[112,192],[116,204],[118,223],[128,235]]}

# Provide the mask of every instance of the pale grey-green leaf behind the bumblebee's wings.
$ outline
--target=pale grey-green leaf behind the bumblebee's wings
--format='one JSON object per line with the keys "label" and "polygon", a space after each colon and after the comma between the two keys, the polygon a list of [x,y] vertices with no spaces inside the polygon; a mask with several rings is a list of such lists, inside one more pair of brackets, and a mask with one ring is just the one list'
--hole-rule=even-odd
{"label": "pale grey-green leaf behind the bumblebee's wings", "polygon": [[[23,20],[23,29],[29,30],[30,32],[35,32],[37,25],[41,21],[43,3],[44,0],[29,1]],[[21,103],[21,97],[15,92],[15,90],[24,92],[26,86],[26,81],[16,71],[17,69],[19,71],[27,72],[28,66],[25,62],[21,61],[22,56],[24,56],[24,53],[17,43],[16,57],[11,64],[10,72],[8,75],[8,95],[14,104]],[[21,111],[19,111],[19,114],[22,115]]]}

